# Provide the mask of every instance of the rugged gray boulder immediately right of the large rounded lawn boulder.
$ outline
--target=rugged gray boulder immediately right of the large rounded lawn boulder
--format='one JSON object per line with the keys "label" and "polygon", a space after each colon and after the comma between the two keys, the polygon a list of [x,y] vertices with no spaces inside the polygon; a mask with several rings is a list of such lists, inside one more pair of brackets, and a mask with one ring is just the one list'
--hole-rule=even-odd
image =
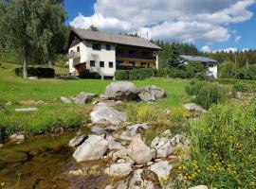
{"label": "rugged gray boulder immediately right of the large rounded lawn boulder", "polygon": [[138,96],[142,101],[155,101],[155,98],[166,97],[166,92],[155,85],[146,86],[138,90]]}

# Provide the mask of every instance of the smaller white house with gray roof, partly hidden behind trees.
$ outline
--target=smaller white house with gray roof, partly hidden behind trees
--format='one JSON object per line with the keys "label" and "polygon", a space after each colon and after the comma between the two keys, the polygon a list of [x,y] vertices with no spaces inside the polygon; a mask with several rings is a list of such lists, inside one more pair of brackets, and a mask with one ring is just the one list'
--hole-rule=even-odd
{"label": "smaller white house with gray roof, partly hidden behind trees", "polygon": [[212,60],[207,57],[195,57],[195,56],[186,56],[186,55],[181,55],[180,58],[185,61],[185,63],[188,63],[188,61],[200,61],[205,65],[207,68],[207,76],[208,77],[218,77],[218,66],[217,66],[217,61]]}

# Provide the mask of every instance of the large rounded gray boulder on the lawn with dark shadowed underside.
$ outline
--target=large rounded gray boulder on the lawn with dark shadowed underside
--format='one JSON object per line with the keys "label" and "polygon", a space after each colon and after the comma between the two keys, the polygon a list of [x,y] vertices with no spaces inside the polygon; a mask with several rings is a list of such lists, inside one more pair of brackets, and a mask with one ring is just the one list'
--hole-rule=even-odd
{"label": "large rounded gray boulder on the lawn with dark shadowed underside", "polygon": [[134,83],[127,81],[119,81],[110,83],[104,93],[104,97],[114,100],[137,100],[137,87]]}

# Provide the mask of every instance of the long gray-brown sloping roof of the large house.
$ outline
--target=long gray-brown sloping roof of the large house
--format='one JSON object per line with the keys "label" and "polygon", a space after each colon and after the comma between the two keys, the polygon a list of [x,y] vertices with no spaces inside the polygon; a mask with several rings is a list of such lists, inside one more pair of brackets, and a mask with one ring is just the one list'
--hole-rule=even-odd
{"label": "long gray-brown sloping roof of the large house", "polygon": [[72,27],[72,30],[82,39],[105,43],[117,43],[131,46],[139,46],[160,50],[161,48],[155,43],[150,43],[143,38],[106,33],[101,31],[92,31],[88,29],[79,29]]}

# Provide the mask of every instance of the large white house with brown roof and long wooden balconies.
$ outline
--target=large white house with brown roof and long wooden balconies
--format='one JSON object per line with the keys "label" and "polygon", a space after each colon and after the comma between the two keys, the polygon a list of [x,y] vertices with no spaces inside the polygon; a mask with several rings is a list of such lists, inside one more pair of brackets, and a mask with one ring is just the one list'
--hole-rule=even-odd
{"label": "large white house with brown roof and long wooden balconies", "polygon": [[143,38],[72,28],[64,49],[70,74],[87,69],[104,78],[119,69],[158,68],[155,51],[161,48]]}

